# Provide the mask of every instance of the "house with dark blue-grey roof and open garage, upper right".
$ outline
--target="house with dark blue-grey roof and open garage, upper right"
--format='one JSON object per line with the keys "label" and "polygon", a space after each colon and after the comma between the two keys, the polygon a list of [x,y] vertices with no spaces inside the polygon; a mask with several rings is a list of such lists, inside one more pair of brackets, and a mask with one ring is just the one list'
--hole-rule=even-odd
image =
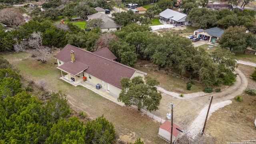
{"label": "house with dark blue-grey roof and open garage, upper right", "polygon": [[[209,42],[216,42],[221,38],[224,30],[214,27],[208,30],[204,30],[196,33],[196,37],[202,40],[208,40]],[[195,32],[194,32],[195,33]]]}

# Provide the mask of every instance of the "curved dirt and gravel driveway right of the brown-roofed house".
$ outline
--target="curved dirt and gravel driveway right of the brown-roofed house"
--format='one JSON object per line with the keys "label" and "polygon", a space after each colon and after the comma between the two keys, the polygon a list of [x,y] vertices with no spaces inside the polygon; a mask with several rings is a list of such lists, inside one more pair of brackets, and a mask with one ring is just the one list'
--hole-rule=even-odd
{"label": "curved dirt and gravel driveway right of the brown-roofed house", "polygon": [[[235,84],[218,93],[214,92],[211,94],[205,94],[203,92],[198,92],[186,94],[181,98],[179,94],[175,92],[162,90],[163,93],[160,108],[156,112],[152,113],[163,120],[167,120],[167,105],[170,105],[170,102],[174,103],[174,123],[180,125],[191,137],[194,137],[202,130],[210,103],[210,96],[213,96],[212,106],[210,109],[211,114],[215,110],[230,104],[230,99],[234,98],[238,94],[242,94],[246,89],[248,85],[246,76],[244,76],[239,69],[236,69],[236,73],[238,76]],[[210,118],[210,115],[208,118]]]}

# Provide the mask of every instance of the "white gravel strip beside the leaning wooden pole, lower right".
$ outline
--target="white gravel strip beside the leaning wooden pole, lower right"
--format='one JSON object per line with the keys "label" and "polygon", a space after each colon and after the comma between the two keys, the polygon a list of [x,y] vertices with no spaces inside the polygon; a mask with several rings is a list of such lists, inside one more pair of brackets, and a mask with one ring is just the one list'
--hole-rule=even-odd
{"label": "white gravel strip beside the leaning wooden pole, lower right", "polygon": [[[215,112],[216,110],[218,110],[219,108],[223,108],[224,106],[231,104],[232,101],[231,100],[226,100],[223,102],[219,102],[216,104],[212,104],[210,107],[210,111],[208,114],[208,119],[210,118],[210,116],[212,115],[213,112]],[[191,138],[195,138],[195,136],[199,133],[202,132],[203,126],[204,126],[204,121],[207,115],[207,111],[208,111],[209,106],[205,106],[200,114],[197,116],[197,118],[194,120],[194,122],[190,125],[190,127],[188,128],[188,136],[190,136]],[[208,120],[207,119],[207,120]],[[206,123],[207,126],[207,123]]]}

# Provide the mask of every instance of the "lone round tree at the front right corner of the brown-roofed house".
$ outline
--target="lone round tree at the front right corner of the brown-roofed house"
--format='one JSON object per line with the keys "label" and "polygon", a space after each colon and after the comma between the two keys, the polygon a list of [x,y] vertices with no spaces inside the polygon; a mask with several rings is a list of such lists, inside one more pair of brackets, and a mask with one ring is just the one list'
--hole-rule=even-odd
{"label": "lone round tree at the front right corner of the brown-roofed house", "polygon": [[137,106],[138,110],[146,107],[148,111],[158,110],[162,94],[157,91],[156,86],[159,82],[156,79],[147,78],[146,83],[142,77],[136,76],[130,80],[122,78],[120,81],[122,91],[119,94],[118,101],[124,102],[126,106]]}

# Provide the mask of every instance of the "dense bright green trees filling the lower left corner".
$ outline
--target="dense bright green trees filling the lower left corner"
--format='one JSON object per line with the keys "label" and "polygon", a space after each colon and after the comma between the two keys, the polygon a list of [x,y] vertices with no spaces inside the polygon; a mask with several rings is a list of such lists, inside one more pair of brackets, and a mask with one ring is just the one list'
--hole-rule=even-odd
{"label": "dense bright green trees filling the lower left corner", "polygon": [[18,73],[0,58],[1,143],[110,144],[115,139],[113,124],[103,116],[86,125],[75,116],[66,121],[71,110],[65,94],[52,92],[43,104],[22,90]]}

